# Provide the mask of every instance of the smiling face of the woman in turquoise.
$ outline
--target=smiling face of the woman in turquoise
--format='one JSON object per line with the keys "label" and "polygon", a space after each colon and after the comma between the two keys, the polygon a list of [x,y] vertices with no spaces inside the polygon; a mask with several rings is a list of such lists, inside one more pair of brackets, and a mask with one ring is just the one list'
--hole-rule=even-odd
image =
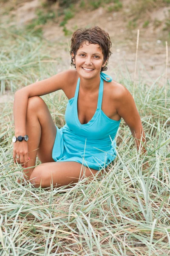
{"label": "smiling face of the woman in turquoise", "polygon": [[103,64],[103,53],[99,44],[90,44],[85,41],[77,50],[74,61],[79,76],[91,79],[99,75]]}

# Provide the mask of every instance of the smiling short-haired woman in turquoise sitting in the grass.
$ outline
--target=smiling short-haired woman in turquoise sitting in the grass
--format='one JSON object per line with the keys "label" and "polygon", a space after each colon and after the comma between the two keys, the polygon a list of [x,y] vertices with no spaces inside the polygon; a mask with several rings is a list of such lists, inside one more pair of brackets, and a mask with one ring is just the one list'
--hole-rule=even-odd
{"label": "smiling short-haired woman in turquoise sitting in the grass", "polygon": [[[137,148],[141,138],[145,142],[133,97],[101,72],[107,70],[110,48],[108,33],[98,26],[78,29],[70,52],[76,70],[66,70],[15,93],[13,157],[35,187],[68,185],[107,167],[116,157],[114,137],[121,118]],[[40,98],[56,90],[63,90],[68,97],[66,125],[61,129],[54,125]],[[37,155],[42,164],[34,168]]]}

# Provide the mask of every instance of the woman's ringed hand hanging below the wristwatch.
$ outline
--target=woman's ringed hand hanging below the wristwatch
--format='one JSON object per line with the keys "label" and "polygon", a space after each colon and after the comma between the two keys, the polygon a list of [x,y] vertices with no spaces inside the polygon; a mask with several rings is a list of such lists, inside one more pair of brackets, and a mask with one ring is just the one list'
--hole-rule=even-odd
{"label": "woman's ringed hand hanging below the wristwatch", "polygon": [[28,142],[16,141],[13,148],[13,158],[15,163],[21,164],[24,168],[28,167]]}

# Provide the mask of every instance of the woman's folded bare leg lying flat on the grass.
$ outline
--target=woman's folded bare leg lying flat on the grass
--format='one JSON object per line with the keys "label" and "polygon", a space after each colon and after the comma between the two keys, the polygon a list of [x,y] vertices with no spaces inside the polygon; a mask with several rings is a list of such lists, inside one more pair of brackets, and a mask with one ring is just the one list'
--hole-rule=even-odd
{"label": "woman's folded bare leg lying flat on the grass", "polygon": [[77,183],[79,178],[90,177],[93,175],[100,176],[102,172],[88,167],[82,166],[77,162],[54,162],[42,163],[35,167],[31,174],[30,181],[35,187],[41,186],[42,188],[53,186],[65,186],[71,183]]}

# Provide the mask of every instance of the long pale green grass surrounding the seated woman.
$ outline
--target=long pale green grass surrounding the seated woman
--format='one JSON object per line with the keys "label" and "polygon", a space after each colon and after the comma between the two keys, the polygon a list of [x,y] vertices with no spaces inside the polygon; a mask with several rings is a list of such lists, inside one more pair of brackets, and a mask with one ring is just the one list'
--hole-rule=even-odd
{"label": "long pale green grass surrounding the seated woman", "polygon": [[[50,44],[24,32],[1,28],[1,93],[65,69]],[[127,74],[117,79],[133,93]],[[117,158],[109,172],[71,189],[34,189],[17,183],[14,166],[12,101],[0,105],[0,256],[167,256],[170,255],[170,84],[159,78],[136,81],[135,100],[147,137],[148,156],[136,152],[129,128],[117,134]],[[12,94],[13,95],[13,94]],[[54,122],[64,124],[67,100],[43,97]],[[142,171],[147,161],[149,168]]]}

